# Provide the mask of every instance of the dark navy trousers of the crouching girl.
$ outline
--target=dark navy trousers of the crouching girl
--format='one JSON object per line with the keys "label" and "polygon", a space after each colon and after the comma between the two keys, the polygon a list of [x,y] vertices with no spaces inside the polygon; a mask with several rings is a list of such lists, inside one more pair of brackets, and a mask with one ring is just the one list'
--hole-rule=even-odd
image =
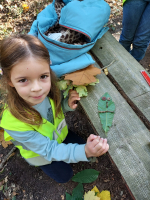
{"label": "dark navy trousers of the crouching girl", "polygon": [[[77,136],[75,133],[73,133],[70,130],[63,143],[85,144],[82,138],[80,138],[79,136]],[[44,171],[45,174],[50,176],[52,179],[54,179],[58,183],[66,183],[73,176],[73,171],[70,164],[67,164],[63,161],[59,161],[59,162],[54,161],[49,165],[40,166],[40,168]]]}

